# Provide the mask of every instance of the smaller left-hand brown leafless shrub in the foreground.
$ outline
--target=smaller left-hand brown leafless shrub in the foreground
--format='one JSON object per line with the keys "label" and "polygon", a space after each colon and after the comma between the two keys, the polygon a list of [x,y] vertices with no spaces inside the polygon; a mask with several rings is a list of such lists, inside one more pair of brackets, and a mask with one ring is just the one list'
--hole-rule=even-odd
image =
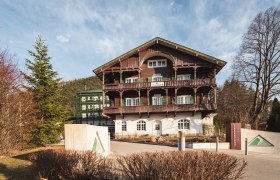
{"label": "smaller left-hand brown leafless shrub in the foreground", "polygon": [[113,163],[96,154],[66,150],[46,150],[31,155],[39,178],[112,179]]}

